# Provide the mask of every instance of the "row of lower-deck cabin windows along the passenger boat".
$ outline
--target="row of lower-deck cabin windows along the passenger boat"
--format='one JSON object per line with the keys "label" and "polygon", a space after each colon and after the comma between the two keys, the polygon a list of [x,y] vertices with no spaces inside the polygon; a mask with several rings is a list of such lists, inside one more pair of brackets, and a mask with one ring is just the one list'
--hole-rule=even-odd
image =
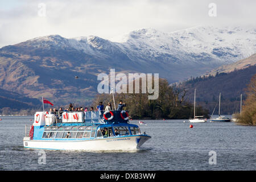
{"label": "row of lower-deck cabin windows along the passenger boat", "polygon": [[[106,127],[108,135],[105,135],[105,127],[98,129],[96,137],[113,137],[115,135],[130,135],[126,126],[113,127],[113,131],[117,129],[117,133],[112,132],[112,127]],[[139,134],[138,127],[130,127],[131,135]],[[90,138],[94,137],[95,131],[44,131],[43,138]]]}

